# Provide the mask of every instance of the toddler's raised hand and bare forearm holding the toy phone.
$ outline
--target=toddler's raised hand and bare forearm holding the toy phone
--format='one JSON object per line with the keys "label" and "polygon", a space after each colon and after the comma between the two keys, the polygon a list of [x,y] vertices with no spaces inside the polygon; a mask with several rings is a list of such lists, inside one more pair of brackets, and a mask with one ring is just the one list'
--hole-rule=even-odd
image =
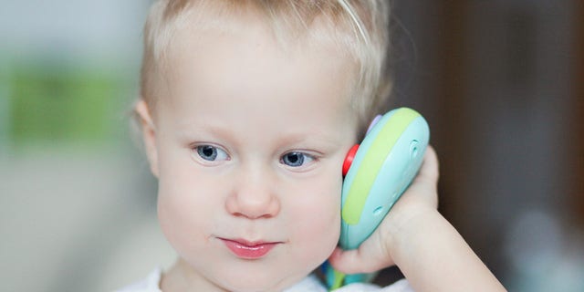
{"label": "toddler's raised hand and bare forearm holding the toy phone", "polygon": [[416,291],[506,291],[454,226],[438,213],[438,161],[428,147],[410,188],[359,249],[329,262],[345,274],[397,265]]}

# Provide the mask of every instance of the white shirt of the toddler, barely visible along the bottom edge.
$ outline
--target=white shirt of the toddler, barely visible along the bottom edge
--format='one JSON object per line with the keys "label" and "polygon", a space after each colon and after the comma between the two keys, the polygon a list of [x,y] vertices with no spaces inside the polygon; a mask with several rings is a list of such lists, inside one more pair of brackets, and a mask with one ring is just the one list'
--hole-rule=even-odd
{"label": "white shirt of the toddler, barely visible along the bottom edge", "polygon": [[[162,292],[159,287],[161,282],[162,270],[157,268],[150,275],[128,287],[124,287],[116,292]],[[401,279],[388,287],[379,287],[367,283],[353,283],[339,289],[335,292],[413,292],[410,283],[406,279]],[[325,287],[318,278],[310,275],[302,279],[293,287],[287,288],[284,292],[327,292]]]}

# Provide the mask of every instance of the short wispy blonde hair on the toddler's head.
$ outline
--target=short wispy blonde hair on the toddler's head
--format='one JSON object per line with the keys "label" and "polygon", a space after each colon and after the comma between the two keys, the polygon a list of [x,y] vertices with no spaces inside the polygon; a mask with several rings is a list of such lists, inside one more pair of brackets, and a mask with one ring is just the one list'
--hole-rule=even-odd
{"label": "short wispy blonde hair on the toddler's head", "polygon": [[[389,97],[387,74],[388,0],[158,0],[144,27],[144,55],[141,68],[141,98],[150,110],[163,93],[163,59],[173,34],[185,27],[197,29],[225,26],[225,19],[245,11],[259,12],[272,27],[279,42],[308,34],[333,41],[352,57],[359,72],[350,89],[352,106],[360,128],[379,113]],[[223,17],[222,17],[223,16]],[[313,26],[324,19],[327,26]],[[245,27],[244,27],[245,28]],[[321,30],[324,29],[324,30]]]}

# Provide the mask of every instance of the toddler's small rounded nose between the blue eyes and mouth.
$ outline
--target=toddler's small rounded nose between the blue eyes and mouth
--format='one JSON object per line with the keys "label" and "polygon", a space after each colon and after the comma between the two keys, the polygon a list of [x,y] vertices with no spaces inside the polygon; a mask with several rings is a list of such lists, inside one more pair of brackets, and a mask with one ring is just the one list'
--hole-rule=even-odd
{"label": "toddler's small rounded nose between the blue eyes and mouth", "polygon": [[280,212],[275,178],[266,172],[247,169],[239,173],[225,201],[229,214],[248,219],[271,218]]}

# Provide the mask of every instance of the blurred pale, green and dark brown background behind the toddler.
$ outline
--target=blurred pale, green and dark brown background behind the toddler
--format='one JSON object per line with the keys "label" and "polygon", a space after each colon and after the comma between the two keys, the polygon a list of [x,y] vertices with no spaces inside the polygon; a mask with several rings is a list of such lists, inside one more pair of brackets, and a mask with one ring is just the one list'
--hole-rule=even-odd
{"label": "blurred pale, green and dark brown background behind the toddler", "polygon": [[[130,129],[150,3],[0,1],[3,290],[171,265]],[[430,123],[440,210],[509,290],[584,291],[584,4],[391,3],[390,106]]]}

